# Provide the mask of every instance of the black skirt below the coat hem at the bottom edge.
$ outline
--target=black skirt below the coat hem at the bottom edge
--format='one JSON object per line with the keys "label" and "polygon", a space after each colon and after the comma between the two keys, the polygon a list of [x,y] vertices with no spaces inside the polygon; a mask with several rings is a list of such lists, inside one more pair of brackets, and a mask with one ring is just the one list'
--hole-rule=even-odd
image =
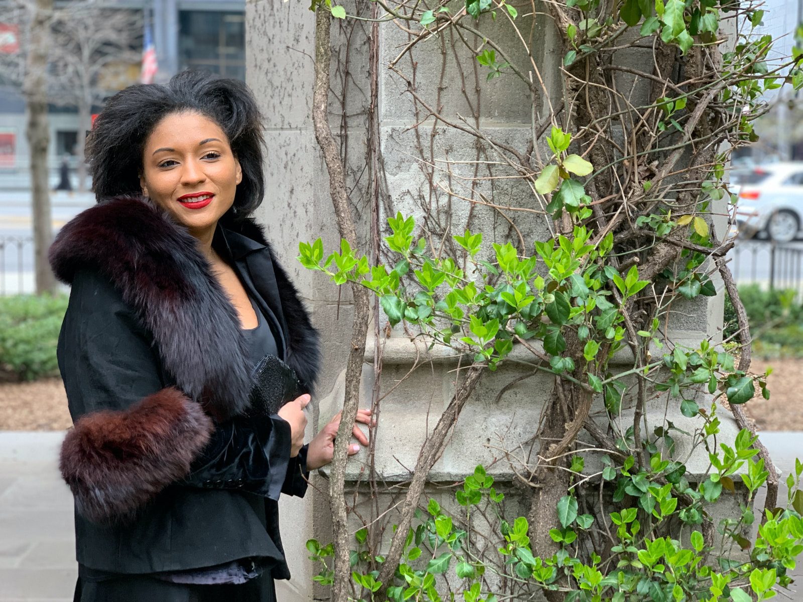
{"label": "black skirt below the coat hem at the bottom edge", "polygon": [[239,585],[173,584],[132,575],[75,584],[73,602],[276,602],[273,577],[263,575]]}

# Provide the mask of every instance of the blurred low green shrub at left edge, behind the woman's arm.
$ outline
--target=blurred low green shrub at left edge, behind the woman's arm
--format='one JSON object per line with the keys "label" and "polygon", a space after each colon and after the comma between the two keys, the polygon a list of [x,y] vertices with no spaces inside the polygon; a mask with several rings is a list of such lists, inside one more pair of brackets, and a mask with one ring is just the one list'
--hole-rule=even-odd
{"label": "blurred low green shrub at left edge, behind the woman's arm", "polygon": [[58,376],[55,348],[67,295],[0,297],[0,377]]}

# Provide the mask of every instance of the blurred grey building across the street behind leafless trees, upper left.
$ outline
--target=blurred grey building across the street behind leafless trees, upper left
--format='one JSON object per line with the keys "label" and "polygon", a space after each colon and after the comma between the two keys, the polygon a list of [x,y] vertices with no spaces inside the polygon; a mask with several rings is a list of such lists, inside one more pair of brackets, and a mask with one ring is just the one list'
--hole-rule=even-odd
{"label": "blurred grey building across the street behind leafless trees, upper left", "polygon": [[[55,6],[76,2],[84,0],[57,0]],[[137,29],[127,32],[132,51],[128,60],[108,63],[97,79],[100,90],[92,102],[92,113],[100,112],[98,99],[141,79],[141,56],[148,28],[158,67],[153,81],[166,81],[188,67],[245,79],[245,0],[106,0],[92,5],[107,11],[125,11]],[[24,42],[19,39],[21,28],[14,22],[13,13],[2,10],[3,6],[8,5],[0,2],[0,59],[10,59],[20,53]],[[6,16],[9,14],[12,18]],[[54,95],[48,115],[51,182],[54,187],[59,183],[59,172],[66,158],[71,185],[76,189],[79,135],[85,136],[86,132],[81,131],[79,108],[68,101],[57,104],[58,96]],[[28,157],[21,82],[0,70],[0,189],[30,188]]]}

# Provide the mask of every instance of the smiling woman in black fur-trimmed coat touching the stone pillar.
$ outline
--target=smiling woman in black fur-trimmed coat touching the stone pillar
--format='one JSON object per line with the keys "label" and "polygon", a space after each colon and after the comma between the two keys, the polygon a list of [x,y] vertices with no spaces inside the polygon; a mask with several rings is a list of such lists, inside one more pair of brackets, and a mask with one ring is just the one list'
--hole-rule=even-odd
{"label": "smiling woman in black fur-trimmed coat touching the stone pillar", "polygon": [[[331,462],[340,417],[304,445],[318,336],[248,217],[263,198],[255,100],[194,72],[128,87],[87,157],[100,202],[51,248],[71,284],[58,357],[75,600],[275,600],[290,577],[277,499]],[[271,353],[304,395],[265,415],[250,375]]]}

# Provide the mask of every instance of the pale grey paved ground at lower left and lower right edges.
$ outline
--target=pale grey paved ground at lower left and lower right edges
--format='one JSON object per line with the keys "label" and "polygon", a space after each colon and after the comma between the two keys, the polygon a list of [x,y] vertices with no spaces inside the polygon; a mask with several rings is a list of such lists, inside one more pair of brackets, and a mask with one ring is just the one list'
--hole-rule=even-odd
{"label": "pale grey paved ground at lower left and lower right edges", "polygon": [[[63,432],[0,431],[0,602],[72,600],[77,576],[72,496],[56,466],[63,437]],[[761,435],[784,478],[803,456],[801,437]],[[785,487],[778,498],[785,502]],[[794,571],[793,592],[801,588],[801,564],[803,559]],[[795,595],[793,600],[803,600]]]}

